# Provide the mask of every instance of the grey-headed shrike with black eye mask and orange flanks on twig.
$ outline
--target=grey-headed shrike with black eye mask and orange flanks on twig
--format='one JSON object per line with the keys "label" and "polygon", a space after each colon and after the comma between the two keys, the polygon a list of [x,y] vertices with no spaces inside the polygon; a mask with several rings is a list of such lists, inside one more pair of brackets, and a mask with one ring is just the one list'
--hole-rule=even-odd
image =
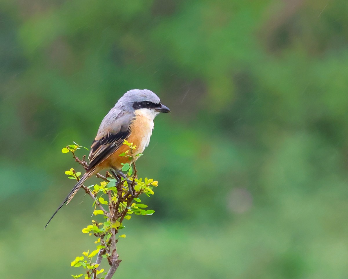
{"label": "grey-headed shrike with black eye mask and orange flanks on twig", "polygon": [[[168,113],[169,108],[161,104],[159,97],[148,89],[132,89],[127,91],[109,111],[102,120],[97,135],[90,147],[89,165],[86,173],[72,188],[68,196],[60,204],[52,217],[48,220],[45,228],[56,215],[58,210],[68,204],[78,192],[81,185],[90,176],[93,176],[102,169],[112,169],[124,178],[121,172],[122,164],[128,162],[128,157],[119,156],[128,150],[123,144],[124,140],[136,145],[134,156],[142,153],[149,145],[153,131],[156,115],[160,112]],[[134,157],[134,161],[139,156]]]}

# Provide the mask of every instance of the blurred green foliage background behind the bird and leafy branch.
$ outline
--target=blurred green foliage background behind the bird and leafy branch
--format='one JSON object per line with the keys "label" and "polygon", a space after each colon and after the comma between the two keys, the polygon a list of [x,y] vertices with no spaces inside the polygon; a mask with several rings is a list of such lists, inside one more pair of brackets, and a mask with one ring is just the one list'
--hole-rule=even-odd
{"label": "blurred green foliage background behind the bird and leafy branch", "polygon": [[1,0],[0,38],[2,278],[81,273],[90,199],[43,230],[79,168],[61,149],[134,88],[172,112],[115,278],[347,278],[347,1]]}

